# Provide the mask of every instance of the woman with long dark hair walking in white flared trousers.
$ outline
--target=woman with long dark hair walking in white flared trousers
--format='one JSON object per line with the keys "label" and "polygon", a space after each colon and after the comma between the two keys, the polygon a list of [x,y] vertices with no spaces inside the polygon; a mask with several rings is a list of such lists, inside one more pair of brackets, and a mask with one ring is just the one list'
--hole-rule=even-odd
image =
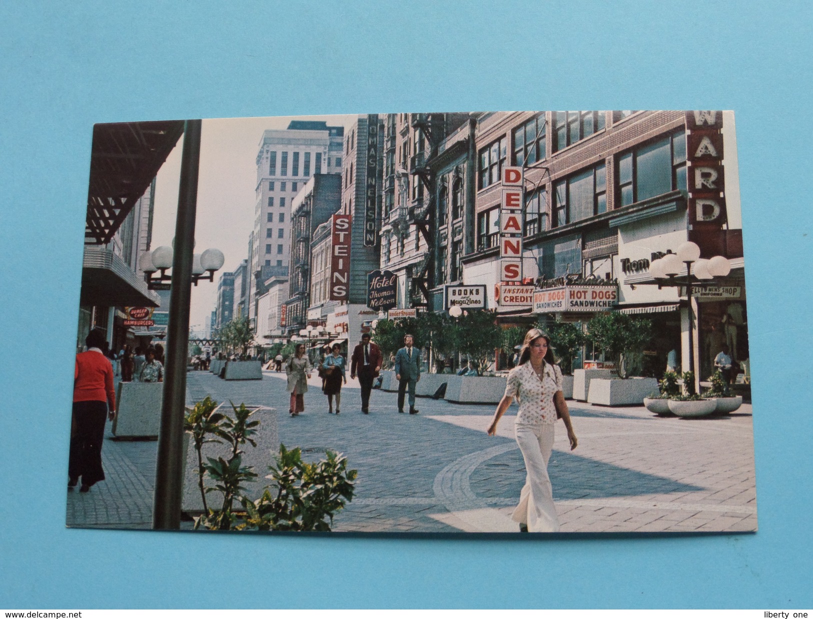
{"label": "woman with long dark hair walking in white flared trousers", "polygon": [[532,533],[559,531],[559,516],[548,477],[557,408],[567,428],[571,450],[578,444],[562,393],[562,370],[555,365],[549,344],[550,338],[539,329],[531,329],[525,335],[520,363],[508,374],[505,396],[497,405],[488,429],[489,435],[497,434],[500,418],[516,398],[520,403],[520,412],[516,416],[516,442],[520,445],[527,474],[520,492],[520,504],[511,518],[520,523],[521,531]]}

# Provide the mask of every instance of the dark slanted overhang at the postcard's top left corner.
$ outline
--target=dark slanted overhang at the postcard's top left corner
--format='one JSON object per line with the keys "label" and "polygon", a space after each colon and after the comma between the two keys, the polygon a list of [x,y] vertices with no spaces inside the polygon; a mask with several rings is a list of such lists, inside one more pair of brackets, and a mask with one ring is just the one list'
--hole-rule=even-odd
{"label": "dark slanted overhang at the postcard's top left corner", "polygon": [[93,126],[86,245],[113,238],[183,132],[183,120]]}

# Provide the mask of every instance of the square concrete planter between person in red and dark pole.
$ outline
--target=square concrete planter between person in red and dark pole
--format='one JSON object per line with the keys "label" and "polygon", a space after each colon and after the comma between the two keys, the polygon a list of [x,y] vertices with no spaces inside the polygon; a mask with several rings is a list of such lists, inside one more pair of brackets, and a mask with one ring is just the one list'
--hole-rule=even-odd
{"label": "square concrete planter between person in red and dark pole", "polygon": [[118,405],[113,418],[115,438],[158,438],[163,383],[119,383],[115,401]]}

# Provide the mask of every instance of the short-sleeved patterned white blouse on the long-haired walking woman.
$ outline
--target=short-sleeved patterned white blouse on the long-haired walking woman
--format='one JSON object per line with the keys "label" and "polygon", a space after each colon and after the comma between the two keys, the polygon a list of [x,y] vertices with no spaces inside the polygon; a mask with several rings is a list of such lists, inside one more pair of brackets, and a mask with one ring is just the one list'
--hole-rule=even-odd
{"label": "short-sleeved patterned white blouse on the long-haired walking woman", "polygon": [[517,423],[538,426],[556,422],[554,395],[562,391],[562,370],[559,370],[559,366],[546,363],[542,374],[543,379],[540,380],[530,361],[515,367],[508,374],[505,395],[520,402]]}

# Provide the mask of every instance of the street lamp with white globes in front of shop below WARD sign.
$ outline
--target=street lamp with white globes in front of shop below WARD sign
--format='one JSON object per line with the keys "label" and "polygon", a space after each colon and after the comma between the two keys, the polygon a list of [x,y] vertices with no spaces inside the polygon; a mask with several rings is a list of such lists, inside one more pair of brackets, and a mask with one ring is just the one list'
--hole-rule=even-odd
{"label": "street lamp with white globes in front of shop below WARD sign", "polygon": [[[680,276],[685,265],[686,275]],[[694,274],[692,276],[692,267]],[[725,277],[731,271],[731,263],[724,256],[714,258],[700,258],[700,248],[697,243],[687,240],[677,248],[677,253],[667,253],[662,258],[652,261],[649,273],[658,284],[658,288],[683,287],[686,288],[686,297],[689,302],[689,372],[694,373],[694,337],[692,309],[692,284],[709,281],[714,278]]]}

